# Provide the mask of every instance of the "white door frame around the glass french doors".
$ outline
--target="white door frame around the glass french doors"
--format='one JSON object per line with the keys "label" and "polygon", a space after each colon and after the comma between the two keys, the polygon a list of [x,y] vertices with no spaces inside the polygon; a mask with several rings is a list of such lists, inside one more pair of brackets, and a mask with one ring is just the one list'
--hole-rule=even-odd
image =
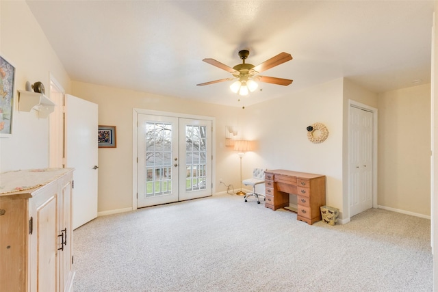
{"label": "white door frame around the glass french doors", "polygon": [[146,114],[153,116],[169,116],[175,118],[188,118],[193,120],[209,120],[211,121],[211,194],[216,194],[216,118],[210,116],[197,116],[190,114],[180,114],[170,111],[155,111],[152,109],[133,108],[132,110],[132,209],[137,210],[137,151],[138,151],[138,137],[137,137],[137,122],[138,114]]}

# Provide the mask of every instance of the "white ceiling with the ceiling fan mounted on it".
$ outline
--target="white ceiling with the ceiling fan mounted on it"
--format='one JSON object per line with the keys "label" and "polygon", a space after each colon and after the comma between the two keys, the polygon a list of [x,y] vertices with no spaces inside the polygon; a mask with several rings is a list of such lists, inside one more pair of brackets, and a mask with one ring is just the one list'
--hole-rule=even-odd
{"label": "white ceiling with the ceiling fan mounted on it", "polygon": [[[434,1],[27,3],[75,81],[239,107],[339,77],[373,92],[430,82]],[[263,75],[294,82],[240,102],[231,81],[196,86],[231,77],[202,59],[233,67],[241,49],[254,65],[292,54]]]}

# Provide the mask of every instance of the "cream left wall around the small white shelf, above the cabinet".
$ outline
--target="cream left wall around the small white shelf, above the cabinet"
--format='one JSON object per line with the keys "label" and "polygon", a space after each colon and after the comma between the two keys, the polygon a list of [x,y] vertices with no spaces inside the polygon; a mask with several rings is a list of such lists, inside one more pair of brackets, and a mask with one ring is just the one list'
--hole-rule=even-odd
{"label": "cream left wall around the small white shelf, above the cabinet", "polygon": [[0,55],[15,67],[12,137],[0,138],[0,172],[49,166],[49,119],[18,111],[18,90],[42,81],[49,92],[50,72],[65,90],[70,80],[25,1],[0,1]]}

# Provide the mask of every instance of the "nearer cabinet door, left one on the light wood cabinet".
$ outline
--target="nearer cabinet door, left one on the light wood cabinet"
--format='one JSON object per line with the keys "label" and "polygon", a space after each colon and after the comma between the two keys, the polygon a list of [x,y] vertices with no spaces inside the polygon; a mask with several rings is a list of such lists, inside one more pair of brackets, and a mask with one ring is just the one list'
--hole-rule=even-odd
{"label": "nearer cabinet door, left one on the light wood cabinet", "polygon": [[[57,185],[53,185],[36,203],[36,274],[38,291],[57,291]],[[36,234],[35,234],[36,231]]]}

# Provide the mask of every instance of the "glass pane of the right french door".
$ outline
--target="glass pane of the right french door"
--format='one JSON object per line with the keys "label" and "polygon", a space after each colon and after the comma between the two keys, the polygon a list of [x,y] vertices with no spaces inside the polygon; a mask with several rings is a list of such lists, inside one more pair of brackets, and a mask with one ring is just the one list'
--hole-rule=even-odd
{"label": "glass pane of the right french door", "polygon": [[207,127],[185,126],[185,190],[206,189]]}

